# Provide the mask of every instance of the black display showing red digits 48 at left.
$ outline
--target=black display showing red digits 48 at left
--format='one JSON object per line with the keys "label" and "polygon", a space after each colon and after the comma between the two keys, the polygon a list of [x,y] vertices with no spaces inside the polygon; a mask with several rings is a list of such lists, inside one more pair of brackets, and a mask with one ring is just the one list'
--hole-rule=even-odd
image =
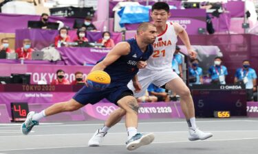
{"label": "black display showing red digits 48 at left", "polygon": [[12,120],[15,122],[22,122],[26,120],[29,112],[28,103],[11,103]]}

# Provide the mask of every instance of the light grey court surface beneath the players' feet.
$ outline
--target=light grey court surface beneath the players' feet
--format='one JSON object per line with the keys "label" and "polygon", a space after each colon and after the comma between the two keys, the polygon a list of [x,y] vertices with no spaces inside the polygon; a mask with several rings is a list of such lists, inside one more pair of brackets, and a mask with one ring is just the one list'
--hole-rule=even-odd
{"label": "light grey court surface beneath the players' feet", "polygon": [[20,132],[20,123],[0,124],[0,153],[80,154],[80,153],[175,153],[175,154],[257,154],[258,118],[197,118],[197,126],[213,137],[191,142],[184,119],[141,120],[138,131],[153,132],[148,146],[127,151],[124,122],[110,129],[103,146],[89,147],[87,142],[103,121],[41,123],[28,136]]}

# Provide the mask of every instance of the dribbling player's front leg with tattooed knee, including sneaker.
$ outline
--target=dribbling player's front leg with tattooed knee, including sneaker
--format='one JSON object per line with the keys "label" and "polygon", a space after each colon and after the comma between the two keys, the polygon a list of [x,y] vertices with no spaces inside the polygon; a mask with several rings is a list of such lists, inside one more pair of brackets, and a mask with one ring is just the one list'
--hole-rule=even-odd
{"label": "dribbling player's front leg with tattooed knee, including sneaker", "polygon": [[150,144],[154,140],[153,133],[143,135],[138,133],[138,109],[139,105],[135,97],[127,96],[118,101],[118,105],[125,110],[125,126],[127,127],[127,149],[135,150],[140,146]]}

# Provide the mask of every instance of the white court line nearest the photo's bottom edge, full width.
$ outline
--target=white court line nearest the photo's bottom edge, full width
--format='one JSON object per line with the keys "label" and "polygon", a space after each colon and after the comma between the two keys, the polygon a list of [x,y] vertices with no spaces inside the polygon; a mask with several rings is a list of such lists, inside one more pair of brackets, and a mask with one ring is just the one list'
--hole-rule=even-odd
{"label": "white court line nearest the photo's bottom edge, full width", "polygon": [[[217,141],[230,141],[230,140],[258,140],[258,138],[232,138],[225,140],[206,140],[205,142],[217,142]],[[171,141],[171,142],[153,142],[152,144],[168,144],[168,143],[182,143],[182,142],[191,142],[191,141]],[[195,141],[202,142],[202,141]],[[125,146],[125,144],[103,144],[103,146]],[[6,149],[0,151],[25,151],[25,150],[36,150],[36,149],[61,149],[61,148],[78,148],[78,147],[87,147],[87,146],[54,146],[46,148],[28,148],[28,149]]]}

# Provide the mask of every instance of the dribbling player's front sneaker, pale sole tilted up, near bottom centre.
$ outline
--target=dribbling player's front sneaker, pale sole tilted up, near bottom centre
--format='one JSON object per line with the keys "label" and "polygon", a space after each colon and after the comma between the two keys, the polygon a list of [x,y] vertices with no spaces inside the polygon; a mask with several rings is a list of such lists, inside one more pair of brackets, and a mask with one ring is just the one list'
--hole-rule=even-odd
{"label": "dribbling player's front sneaker, pale sole tilted up, near bottom centre", "polygon": [[142,133],[136,133],[136,135],[131,137],[130,140],[127,140],[127,150],[133,151],[138,149],[140,146],[151,144],[154,138],[155,137],[153,133],[148,133],[146,135],[143,135]]}

